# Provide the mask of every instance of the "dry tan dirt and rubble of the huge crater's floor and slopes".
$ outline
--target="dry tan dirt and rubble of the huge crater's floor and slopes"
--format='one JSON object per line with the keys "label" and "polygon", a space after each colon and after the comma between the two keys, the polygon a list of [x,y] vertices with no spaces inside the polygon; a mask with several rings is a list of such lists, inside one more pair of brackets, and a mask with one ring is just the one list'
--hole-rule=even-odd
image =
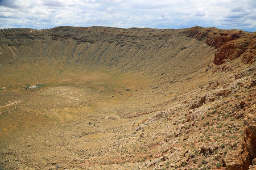
{"label": "dry tan dirt and rubble of the huge crater's floor and slopes", "polygon": [[256,124],[243,121],[256,116],[255,57],[214,65],[221,44],[210,41],[238,43],[239,35],[252,44],[255,33],[0,34],[0,169],[246,169],[255,158],[248,127]]}

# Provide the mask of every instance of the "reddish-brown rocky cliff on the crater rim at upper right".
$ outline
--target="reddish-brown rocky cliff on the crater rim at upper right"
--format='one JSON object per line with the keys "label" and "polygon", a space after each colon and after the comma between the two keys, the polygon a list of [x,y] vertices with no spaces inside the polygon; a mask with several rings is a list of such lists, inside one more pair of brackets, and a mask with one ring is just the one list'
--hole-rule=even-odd
{"label": "reddish-brown rocky cliff on the crater rim at upper right", "polygon": [[242,62],[253,63],[256,57],[256,33],[246,33],[238,30],[217,31],[216,28],[202,29],[193,27],[188,29],[189,37],[205,40],[209,46],[217,50],[214,64],[221,65],[241,56]]}

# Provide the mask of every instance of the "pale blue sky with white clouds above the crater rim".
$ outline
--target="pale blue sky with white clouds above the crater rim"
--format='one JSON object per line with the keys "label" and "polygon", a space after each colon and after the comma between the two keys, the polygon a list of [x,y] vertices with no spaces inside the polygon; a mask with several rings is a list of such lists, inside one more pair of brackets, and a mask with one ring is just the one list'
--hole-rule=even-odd
{"label": "pale blue sky with white clouds above the crater rim", "polygon": [[0,28],[217,27],[256,31],[255,0],[0,0]]}

